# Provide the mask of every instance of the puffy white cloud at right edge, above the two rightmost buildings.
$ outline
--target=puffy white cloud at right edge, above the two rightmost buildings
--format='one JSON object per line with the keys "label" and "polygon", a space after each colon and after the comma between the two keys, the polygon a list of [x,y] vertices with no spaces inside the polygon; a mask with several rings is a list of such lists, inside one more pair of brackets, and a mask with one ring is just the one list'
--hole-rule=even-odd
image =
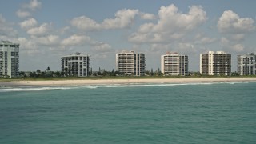
{"label": "puffy white cloud at right edge, above the two rightmost buildings", "polygon": [[218,19],[218,30],[222,33],[241,34],[255,30],[252,18],[240,18],[232,10],[224,11]]}

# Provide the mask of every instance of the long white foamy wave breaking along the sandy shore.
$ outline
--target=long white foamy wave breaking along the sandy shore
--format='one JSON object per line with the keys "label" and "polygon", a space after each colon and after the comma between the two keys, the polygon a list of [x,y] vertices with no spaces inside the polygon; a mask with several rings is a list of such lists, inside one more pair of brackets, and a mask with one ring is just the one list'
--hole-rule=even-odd
{"label": "long white foamy wave breaking along the sandy shore", "polygon": [[126,83],[126,84],[103,84],[90,86],[21,86],[21,87],[0,87],[2,92],[17,92],[17,91],[40,91],[40,90],[70,90],[70,89],[98,89],[98,88],[122,88],[122,87],[145,87],[145,86],[190,86],[190,85],[213,85],[213,84],[239,84],[248,82],[188,82],[188,83]]}

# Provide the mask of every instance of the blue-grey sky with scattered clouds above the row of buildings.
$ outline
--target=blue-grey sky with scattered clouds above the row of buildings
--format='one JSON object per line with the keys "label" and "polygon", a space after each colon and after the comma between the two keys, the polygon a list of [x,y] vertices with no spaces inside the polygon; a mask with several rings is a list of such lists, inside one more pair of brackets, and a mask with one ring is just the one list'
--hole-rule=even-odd
{"label": "blue-grey sky with scattered clouds above the row of buildings", "polygon": [[1,0],[0,40],[20,44],[20,70],[61,70],[61,58],[90,54],[93,71],[115,70],[115,54],[146,54],[158,70],[167,51],[199,71],[208,51],[256,53],[254,0]]}

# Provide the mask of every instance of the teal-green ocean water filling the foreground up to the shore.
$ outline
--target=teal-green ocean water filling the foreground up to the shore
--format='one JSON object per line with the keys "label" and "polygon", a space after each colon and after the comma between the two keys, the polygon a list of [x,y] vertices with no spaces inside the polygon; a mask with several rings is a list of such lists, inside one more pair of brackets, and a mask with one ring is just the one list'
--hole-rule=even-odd
{"label": "teal-green ocean water filling the foreground up to the shore", "polygon": [[0,87],[0,143],[256,143],[256,82]]}

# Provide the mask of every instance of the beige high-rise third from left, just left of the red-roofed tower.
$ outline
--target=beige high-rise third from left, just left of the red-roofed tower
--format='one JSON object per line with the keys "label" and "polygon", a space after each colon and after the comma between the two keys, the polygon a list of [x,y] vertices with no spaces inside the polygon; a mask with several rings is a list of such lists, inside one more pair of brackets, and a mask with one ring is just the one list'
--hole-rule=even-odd
{"label": "beige high-rise third from left, just left of the red-roofed tower", "polygon": [[121,74],[144,76],[146,72],[145,54],[122,51],[116,54],[116,70]]}

